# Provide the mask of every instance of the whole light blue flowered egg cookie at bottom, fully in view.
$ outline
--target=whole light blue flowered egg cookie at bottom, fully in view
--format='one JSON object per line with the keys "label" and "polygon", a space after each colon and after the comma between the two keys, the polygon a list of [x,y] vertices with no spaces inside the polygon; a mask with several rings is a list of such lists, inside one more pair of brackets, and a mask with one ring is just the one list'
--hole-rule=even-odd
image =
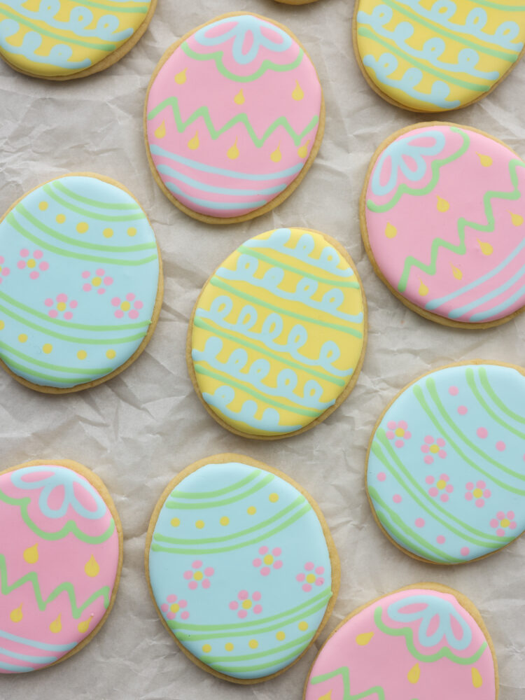
{"label": "whole light blue flowered egg cookie at bottom, fully in view", "polygon": [[186,656],[239,683],[297,661],[339,589],[339,559],[314,500],[239,454],[203,459],[169,483],[151,517],[146,573]]}

